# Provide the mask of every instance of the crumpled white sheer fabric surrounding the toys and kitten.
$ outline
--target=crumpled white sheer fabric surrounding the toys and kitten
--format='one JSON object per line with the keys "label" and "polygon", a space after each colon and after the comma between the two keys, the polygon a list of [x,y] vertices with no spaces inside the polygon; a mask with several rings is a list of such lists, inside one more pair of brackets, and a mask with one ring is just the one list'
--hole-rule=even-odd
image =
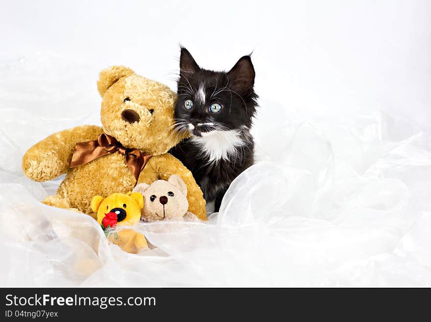
{"label": "crumpled white sheer fabric surrounding the toys and kitten", "polygon": [[[208,223],[135,228],[158,248],[108,245],[90,217],[39,202],[24,151],[99,124],[86,66],[31,55],[0,67],[2,286],[430,286],[431,141],[383,112],[299,117],[262,98],[257,164]],[[408,108],[408,107],[406,107]]]}

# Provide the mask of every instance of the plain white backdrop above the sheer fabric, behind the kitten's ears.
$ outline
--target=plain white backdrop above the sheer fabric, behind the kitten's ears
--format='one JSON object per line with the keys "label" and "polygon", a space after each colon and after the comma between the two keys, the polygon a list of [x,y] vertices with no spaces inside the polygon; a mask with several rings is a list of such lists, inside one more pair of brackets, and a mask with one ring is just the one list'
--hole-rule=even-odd
{"label": "plain white backdrop above the sheer fabric, behind the kitten's ears", "polygon": [[298,113],[390,111],[430,128],[430,17],[428,0],[2,0],[0,58],[57,54],[88,62],[95,79],[123,64],[175,88],[180,43],[216,70],[253,51],[264,99]]}

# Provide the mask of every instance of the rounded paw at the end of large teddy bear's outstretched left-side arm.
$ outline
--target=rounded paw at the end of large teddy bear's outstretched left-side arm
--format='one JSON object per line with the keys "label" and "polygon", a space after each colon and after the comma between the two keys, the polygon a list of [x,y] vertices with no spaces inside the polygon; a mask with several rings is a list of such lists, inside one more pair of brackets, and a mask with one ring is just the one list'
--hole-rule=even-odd
{"label": "rounded paw at the end of large teddy bear's outstretched left-side arm", "polygon": [[23,158],[23,172],[34,181],[50,180],[61,174],[63,168],[63,162],[52,151],[39,155],[25,154]]}

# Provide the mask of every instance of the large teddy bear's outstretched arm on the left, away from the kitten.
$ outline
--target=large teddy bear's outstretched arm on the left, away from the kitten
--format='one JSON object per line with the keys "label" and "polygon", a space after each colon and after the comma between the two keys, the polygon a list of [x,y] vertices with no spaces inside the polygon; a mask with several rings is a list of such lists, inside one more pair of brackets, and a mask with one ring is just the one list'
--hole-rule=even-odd
{"label": "large teddy bear's outstretched arm on the left, away from the kitten", "polygon": [[96,140],[101,133],[100,126],[81,125],[48,136],[25,152],[24,174],[35,181],[47,181],[66,173],[76,143]]}

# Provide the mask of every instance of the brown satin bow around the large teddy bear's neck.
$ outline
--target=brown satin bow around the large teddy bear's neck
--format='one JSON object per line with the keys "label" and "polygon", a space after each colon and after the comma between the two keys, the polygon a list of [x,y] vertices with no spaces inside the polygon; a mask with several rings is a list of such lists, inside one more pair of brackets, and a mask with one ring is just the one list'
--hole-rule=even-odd
{"label": "brown satin bow around the large teddy bear's neck", "polygon": [[70,167],[74,168],[89,163],[98,157],[114,152],[119,152],[125,156],[127,166],[135,176],[136,181],[138,181],[139,174],[144,170],[146,163],[152,156],[151,154],[143,154],[138,149],[126,149],[114,137],[102,133],[95,141],[76,143]]}

